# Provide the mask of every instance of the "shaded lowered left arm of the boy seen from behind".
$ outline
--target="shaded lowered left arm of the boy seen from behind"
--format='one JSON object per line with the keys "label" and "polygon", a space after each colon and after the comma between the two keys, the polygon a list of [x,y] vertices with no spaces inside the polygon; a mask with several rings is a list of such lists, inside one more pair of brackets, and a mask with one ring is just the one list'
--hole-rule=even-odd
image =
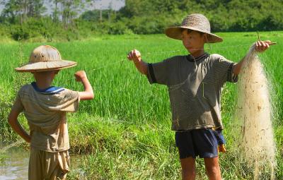
{"label": "shaded lowered left arm of the boy seen from behind", "polygon": [[30,135],[23,129],[21,124],[18,122],[18,112],[16,109],[11,109],[10,114],[8,115],[8,123],[13,128],[13,131],[16,131],[21,138],[23,138],[26,142],[30,143]]}

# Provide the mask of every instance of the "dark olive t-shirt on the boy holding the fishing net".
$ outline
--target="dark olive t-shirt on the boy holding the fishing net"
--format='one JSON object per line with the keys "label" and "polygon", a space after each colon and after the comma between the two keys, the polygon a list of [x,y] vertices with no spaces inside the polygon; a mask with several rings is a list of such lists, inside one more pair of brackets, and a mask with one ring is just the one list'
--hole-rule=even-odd
{"label": "dark olive t-shirt on the boy holding the fishing net", "polygon": [[197,58],[173,56],[148,65],[149,83],[168,87],[173,131],[223,128],[221,89],[226,81],[237,82],[234,64],[219,54],[204,53]]}

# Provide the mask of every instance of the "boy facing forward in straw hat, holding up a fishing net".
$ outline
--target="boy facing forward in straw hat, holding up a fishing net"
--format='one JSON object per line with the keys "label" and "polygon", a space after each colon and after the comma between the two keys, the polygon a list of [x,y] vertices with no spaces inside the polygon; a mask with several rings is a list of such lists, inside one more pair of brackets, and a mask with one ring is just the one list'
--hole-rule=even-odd
{"label": "boy facing forward in straw hat, holding up a fishing net", "polygon": [[[149,83],[168,86],[172,130],[175,131],[183,179],[195,179],[197,156],[204,158],[209,179],[221,179],[214,132],[214,129],[223,129],[221,88],[227,81],[236,83],[245,58],[236,64],[219,54],[204,52],[204,43],[222,42],[222,39],[210,32],[209,20],[202,14],[190,14],[182,25],[168,28],[165,33],[175,40],[182,40],[190,54],[147,64],[141,60],[140,52],[134,49],[127,58],[134,61]],[[263,52],[269,43],[258,41],[255,49]]]}

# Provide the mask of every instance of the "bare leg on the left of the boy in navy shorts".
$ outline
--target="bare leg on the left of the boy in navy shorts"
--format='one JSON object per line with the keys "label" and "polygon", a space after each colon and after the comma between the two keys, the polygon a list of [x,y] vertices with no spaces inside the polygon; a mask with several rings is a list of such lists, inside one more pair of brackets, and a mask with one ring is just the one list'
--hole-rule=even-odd
{"label": "bare leg on the left of the boy in navy shorts", "polygon": [[182,167],[182,179],[194,180],[195,179],[195,158],[187,157],[180,159]]}

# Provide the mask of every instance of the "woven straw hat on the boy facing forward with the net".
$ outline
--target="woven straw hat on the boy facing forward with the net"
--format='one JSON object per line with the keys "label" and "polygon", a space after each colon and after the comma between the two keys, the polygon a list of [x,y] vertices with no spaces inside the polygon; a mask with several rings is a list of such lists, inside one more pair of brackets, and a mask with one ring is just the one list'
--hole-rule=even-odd
{"label": "woven straw hat on the boy facing forward with the net", "polygon": [[175,40],[182,40],[183,29],[197,30],[207,33],[207,43],[222,42],[222,38],[210,32],[209,20],[200,13],[193,13],[183,19],[180,26],[170,27],[165,30],[165,34]]}

